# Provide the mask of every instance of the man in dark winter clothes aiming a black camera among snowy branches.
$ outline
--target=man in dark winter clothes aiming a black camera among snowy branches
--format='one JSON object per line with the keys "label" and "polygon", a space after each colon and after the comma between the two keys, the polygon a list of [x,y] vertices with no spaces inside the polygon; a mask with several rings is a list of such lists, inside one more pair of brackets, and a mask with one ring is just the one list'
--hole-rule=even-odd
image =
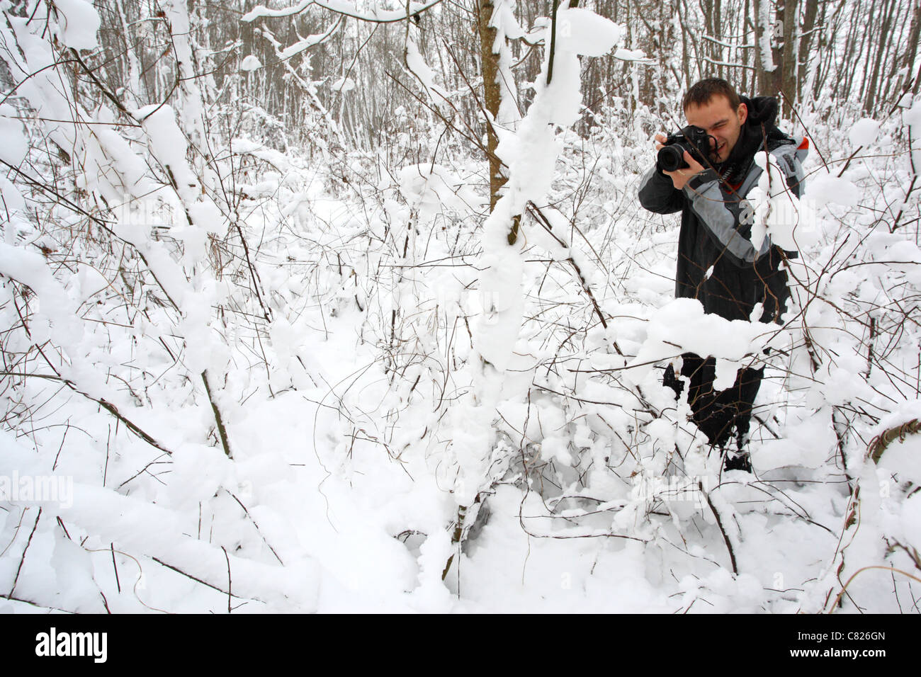
{"label": "man in dark winter clothes aiming a black camera among snowy branches", "polygon": [[[750,240],[753,211],[744,197],[762,173],[755,154],[765,150],[783,170],[786,188],[799,197],[804,176],[800,163],[808,152],[805,143],[798,147],[776,128],[776,99],[740,97],[718,78],[695,83],[684,95],[682,108],[689,124],[682,130],[688,133],[684,143],[690,139],[694,156],[703,162],[684,150],[679,169],[660,169],[657,163],[639,188],[640,204],[648,211],[682,212],[675,296],[696,298],[705,312],[727,320],[779,321],[789,298],[787,274],[780,263],[796,252],[780,250],[769,237],[755,249]],[[698,129],[691,130],[691,125]],[[657,134],[657,149],[667,140]],[[760,317],[752,317],[756,304],[762,304]],[[683,354],[683,379],[671,366],[666,369],[665,385],[676,397],[687,379],[694,423],[711,445],[726,454],[726,470],[752,471],[745,445],[763,375],[764,368],[742,368],[731,388],[715,391],[712,356]],[[732,438],[735,450],[727,449]]]}

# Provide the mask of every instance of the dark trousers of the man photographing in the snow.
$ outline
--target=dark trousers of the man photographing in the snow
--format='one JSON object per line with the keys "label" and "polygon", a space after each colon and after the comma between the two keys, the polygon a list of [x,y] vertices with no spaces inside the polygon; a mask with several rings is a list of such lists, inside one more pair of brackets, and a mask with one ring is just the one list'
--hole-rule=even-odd
{"label": "dark trousers of the man photographing in the snow", "polygon": [[[725,391],[714,391],[713,381],[717,377],[717,360],[704,359],[694,353],[682,355],[682,376],[689,380],[688,404],[692,419],[705,434],[710,444],[725,446],[729,438],[735,437],[741,450],[748,435],[752,419],[752,404],[761,387],[764,368],[741,368],[736,382]],[[675,391],[675,398],[681,397],[684,381],[675,376],[669,365],[665,369],[664,385]]]}

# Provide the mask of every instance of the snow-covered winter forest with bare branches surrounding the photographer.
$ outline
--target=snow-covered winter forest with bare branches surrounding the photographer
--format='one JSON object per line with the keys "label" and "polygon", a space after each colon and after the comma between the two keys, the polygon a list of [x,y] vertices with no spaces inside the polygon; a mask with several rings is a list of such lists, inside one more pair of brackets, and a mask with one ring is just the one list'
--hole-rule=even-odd
{"label": "snow-covered winter forest with bare branches surrounding the photographer", "polygon": [[[0,609],[921,612],[919,0],[0,7]],[[810,139],[782,327],[636,200],[704,76]]]}

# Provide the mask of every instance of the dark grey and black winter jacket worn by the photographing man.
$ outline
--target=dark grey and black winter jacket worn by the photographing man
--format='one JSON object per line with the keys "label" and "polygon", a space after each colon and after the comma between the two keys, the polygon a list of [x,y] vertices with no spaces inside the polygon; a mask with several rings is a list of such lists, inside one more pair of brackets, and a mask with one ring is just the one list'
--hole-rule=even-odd
{"label": "dark grey and black winter jacket worn by the photographing man", "polygon": [[[752,309],[760,302],[764,304],[760,320],[777,321],[789,298],[787,274],[779,268],[783,252],[770,238],[755,251],[749,239],[753,219],[745,217],[751,212],[742,199],[761,176],[754,156],[765,147],[784,171],[787,186],[799,197],[804,179],[800,162],[807,150],[798,149],[792,138],[775,127],[775,99],[741,100],[749,114],[726,162],[692,177],[681,191],[653,167],[640,184],[639,201],[657,214],[682,212],[676,297],[697,298],[705,312],[727,320],[751,319]],[[794,256],[795,252],[787,252],[787,257]]]}

